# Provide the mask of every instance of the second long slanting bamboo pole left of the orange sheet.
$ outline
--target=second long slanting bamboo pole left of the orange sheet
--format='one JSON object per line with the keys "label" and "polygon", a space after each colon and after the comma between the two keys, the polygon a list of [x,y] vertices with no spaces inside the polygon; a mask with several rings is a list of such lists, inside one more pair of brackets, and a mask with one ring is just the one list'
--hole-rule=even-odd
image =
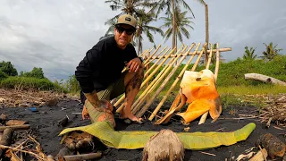
{"label": "second long slanting bamboo pole left of the orange sheet", "polygon": [[[143,106],[141,108],[141,110],[139,111],[139,114],[137,114],[137,116],[141,117],[148,109],[149,106],[151,106],[151,104],[154,102],[155,98],[159,95],[159,93],[164,89],[164,86],[167,84],[167,82],[171,79],[172,75],[174,72],[176,72],[176,70],[179,68],[179,65],[182,63],[182,61],[186,58],[186,56],[189,54],[189,51],[195,46],[195,44],[193,43],[190,47],[189,47],[189,50],[184,53],[184,55],[181,57],[181,55],[178,55],[176,57],[176,59],[173,61],[174,63],[177,62],[177,60],[179,59],[179,57],[181,57],[181,60],[179,61],[178,64],[176,64],[176,66],[174,68],[172,68],[172,71],[169,72],[169,75],[164,79],[163,83],[161,84],[161,86],[156,89],[156,93],[150,98],[150,100],[147,102],[147,104],[145,106]],[[170,66],[172,67],[172,66]],[[170,68],[171,69],[171,68]],[[163,77],[162,77],[163,79]],[[149,91],[151,92],[151,91]]]}

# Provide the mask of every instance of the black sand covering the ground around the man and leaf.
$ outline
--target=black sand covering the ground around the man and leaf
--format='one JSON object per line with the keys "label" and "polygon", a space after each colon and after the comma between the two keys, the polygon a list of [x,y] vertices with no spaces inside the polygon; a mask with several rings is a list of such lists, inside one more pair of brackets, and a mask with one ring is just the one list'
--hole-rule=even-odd
{"label": "black sand covering the ground around the man and leaf", "polygon": [[[153,105],[153,107],[156,106]],[[166,105],[165,105],[166,106]],[[229,109],[235,109],[236,114],[231,115]],[[82,121],[80,113],[82,105],[76,100],[62,100],[57,106],[43,106],[38,107],[38,112],[31,112],[27,107],[9,107],[0,109],[0,114],[6,114],[9,119],[19,119],[28,121],[31,125],[31,130],[38,134],[38,141],[47,155],[54,157],[64,146],[60,144],[61,137],[58,137],[63,127],[58,125],[66,115],[70,118],[70,122],[66,127],[75,127],[87,125],[89,121]],[[145,121],[143,124],[131,123],[126,124],[121,120],[116,119],[118,131],[160,131],[162,129],[171,129],[172,131],[183,131],[184,128],[189,127],[189,132],[194,131],[235,131],[245,126],[248,123],[256,123],[257,127],[247,140],[240,141],[232,146],[222,146],[219,148],[212,148],[203,150],[203,152],[214,154],[215,156],[206,155],[201,151],[185,151],[184,160],[235,160],[248,148],[255,146],[255,142],[259,135],[266,132],[272,133],[280,140],[285,142],[285,130],[274,128],[274,124],[269,129],[265,128],[265,123],[260,123],[258,118],[252,119],[233,119],[238,118],[238,114],[258,114],[255,106],[229,106],[228,109],[223,109],[223,114],[215,123],[211,123],[211,118],[206,119],[206,123],[198,125],[198,120],[190,123],[188,126],[182,125],[179,117],[172,117],[172,123],[166,125],[153,125],[151,122]],[[147,119],[146,119],[147,120]],[[281,127],[282,128],[282,127]],[[20,131],[18,131],[20,132]],[[103,148],[105,150],[106,148]],[[255,148],[254,151],[258,149]],[[141,160],[142,149],[128,150],[128,149],[114,149],[105,150],[105,155],[97,160]],[[276,158],[275,160],[282,160]]]}

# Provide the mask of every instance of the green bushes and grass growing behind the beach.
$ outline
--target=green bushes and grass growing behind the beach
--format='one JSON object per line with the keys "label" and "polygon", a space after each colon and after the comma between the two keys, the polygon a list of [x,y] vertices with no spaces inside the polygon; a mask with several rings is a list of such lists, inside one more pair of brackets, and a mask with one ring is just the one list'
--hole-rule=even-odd
{"label": "green bushes and grass growing behind the beach", "polygon": [[[286,93],[286,87],[284,86],[273,85],[271,83],[265,83],[259,80],[244,80],[245,73],[255,72],[273,77],[278,80],[286,81],[286,55],[278,54],[271,58],[271,60],[268,59],[265,61],[265,58],[257,59],[257,56],[254,56],[255,49],[253,47],[250,47],[249,50],[248,47],[245,47],[245,49],[245,55],[248,55],[248,58],[243,56],[242,59],[237,58],[229,63],[222,62],[220,64],[220,70],[216,83],[218,92],[223,100],[223,106],[243,106],[247,102],[248,104],[251,102],[251,104],[254,106],[263,106],[261,99],[257,97],[251,98],[250,101],[244,100],[250,99],[249,96],[263,96],[269,94],[278,95],[280,93]],[[273,52],[268,53],[272,53],[270,55],[273,55]],[[30,72],[20,72],[20,74],[17,75],[17,70],[10,62],[2,62],[0,65],[0,88],[53,90],[57,92],[71,93],[72,95],[80,94],[80,85],[74,75],[71,75],[68,80],[65,81],[55,80],[55,82],[52,82],[51,80],[46,79],[42,68],[34,67]],[[161,91],[157,97],[158,100],[161,100],[165,96],[166,92],[171,88],[173,81],[177,79],[184,66],[185,64],[181,64],[176,72],[174,72],[172,78],[168,80],[163,91]],[[192,66],[193,64],[189,64],[187,70],[190,71]],[[214,72],[214,67],[214,64],[212,64],[209,68]],[[200,64],[198,65],[196,71],[198,72],[205,68],[205,65]],[[160,67],[150,82],[154,80],[157,74],[163,69],[164,66]],[[171,71],[172,70],[169,72]],[[164,79],[161,82],[163,81]],[[181,80],[179,80],[175,88],[172,89],[172,93],[168,97],[167,101],[172,102],[173,98],[178,94],[180,82]],[[142,91],[143,90],[141,90],[139,94]]]}

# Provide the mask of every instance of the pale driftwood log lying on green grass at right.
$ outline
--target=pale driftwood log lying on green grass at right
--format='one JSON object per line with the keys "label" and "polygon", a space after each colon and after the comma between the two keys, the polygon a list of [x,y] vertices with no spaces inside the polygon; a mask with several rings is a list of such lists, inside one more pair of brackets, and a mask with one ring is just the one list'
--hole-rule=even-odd
{"label": "pale driftwood log lying on green grass at right", "polygon": [[258,73],[246,73],[244,74],[244,80],[260,80],[263,82],[271,82],[273,84],[279,84],[282,86],[286,86],[286,82],[282,80],[274,79],[273,77],[269,77],[267,75],[258,74]]}

